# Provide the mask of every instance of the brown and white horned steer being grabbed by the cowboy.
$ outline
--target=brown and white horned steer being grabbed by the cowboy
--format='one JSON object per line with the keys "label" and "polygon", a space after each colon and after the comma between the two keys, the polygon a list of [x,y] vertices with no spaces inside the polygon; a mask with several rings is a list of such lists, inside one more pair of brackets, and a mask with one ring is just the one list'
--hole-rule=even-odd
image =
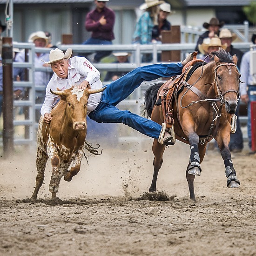
{"label": "brown and white horned steer being grabbed by the cowboy", "polygon": [[[52,199],[56,198],[61,177],[70,182],[80,171],[87,132],[87,102],[90,94],[103,91],[101,89],[70,88],[64,91],[51,91],[59,95],[61,100],[52,109],[50,124],[41,116],[37,132],[37,176],[34,193],[36,200],[38,191],[43,184],[44,172],[48,158],[51,160],[53,173],[49,185]],[[73,162],[70,171],[68,170]]]}

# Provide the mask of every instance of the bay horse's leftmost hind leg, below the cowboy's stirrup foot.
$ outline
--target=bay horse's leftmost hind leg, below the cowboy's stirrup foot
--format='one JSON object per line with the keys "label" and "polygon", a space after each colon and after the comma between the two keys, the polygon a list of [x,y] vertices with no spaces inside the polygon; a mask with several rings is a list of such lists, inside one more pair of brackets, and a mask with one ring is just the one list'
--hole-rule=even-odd
{"label": "bay horse's leftmost hind leg, below the cowboy's stirrup foot", "polygon": [[153,154],[155,155],[154,162],[153,162],[154,174],[153,174],[151,186],[148,189],[149,192],[156,192],[157,175],[162,166],[162,162],[163,162],[162,155],[164,150],[165,150],[165,146],[159,144],[158,141],[154,139],[153,146],[152,146],[152,151],[153,151]]}

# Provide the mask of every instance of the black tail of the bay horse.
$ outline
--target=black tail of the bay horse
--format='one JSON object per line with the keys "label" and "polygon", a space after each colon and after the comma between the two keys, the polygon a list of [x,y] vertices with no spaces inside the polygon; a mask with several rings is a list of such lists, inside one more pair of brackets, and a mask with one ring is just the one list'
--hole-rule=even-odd
{"label": "black tail of the bay horse", "polygon": [[158,90],[163,84],[164,82],[156,82],[152,86],[150,86],[145,93],[144,113],[147,118],[151,117],[152,110],[156,102]]}

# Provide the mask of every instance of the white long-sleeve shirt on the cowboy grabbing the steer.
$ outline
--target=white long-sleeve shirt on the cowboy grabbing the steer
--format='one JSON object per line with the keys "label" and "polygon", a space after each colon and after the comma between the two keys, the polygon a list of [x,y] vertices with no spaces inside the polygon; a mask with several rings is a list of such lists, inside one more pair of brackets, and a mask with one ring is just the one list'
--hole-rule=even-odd
{"label": "white long-sleeve shirt on the cowboy grabbing the steer", "polygon": [[[41,108],[41,115],[50,113],[52,108],[57,103],[59,96],[52,94],[52,91],[65,90],[72,86],[78,86],[83,81],[88,81],[92,89],[102,88],[100,80],[100,72],[84,57],[73,57],[68,60],[68,75],[67,78],[62,79],[55,73],[49,81],[46,88],[46,96],[44,104]],[[101,93],[91,94],[88,99],[87,114],[92,112],[99,104],[101,99]]]}

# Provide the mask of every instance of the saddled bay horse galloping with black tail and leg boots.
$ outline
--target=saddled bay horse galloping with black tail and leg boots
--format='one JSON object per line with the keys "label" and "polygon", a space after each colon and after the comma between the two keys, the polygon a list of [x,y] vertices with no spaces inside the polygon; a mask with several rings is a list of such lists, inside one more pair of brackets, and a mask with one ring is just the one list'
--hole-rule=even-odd
{"label": "saddled bay horse galloping with black tail and leg boots", "polygon": [[[200,163],[203,161],[207,143],[213,138],[217,141],[224,160],[227,186],[238,188],[240,185],[229,151],[232,116],[239,100],[240,74],[236,67],[237,58],[221,47],[212,55],[213,60],[207,64],[202,62],[201,67],[197,67],[190,77],[186,70],[181,76],[172,77],[165,83],[154,84],[145,93],[144,110],[151,120],[160,125],[174,127],[175,138],[190,145],[186,179],[190,199],[194,201],[195,175],[201,175]],[[185,80],[186,76],[188,80]],[[168,91],[172,88],[173,96],[169,98],[173,100],[168,101],[168,108],[165,109],[161,101],[163,103],[163,95],[168,97]],[[223,105],[225,108],[222,108]],[[236,127],[234,122],[233,126]],[[157,175],[162,166],[165,148],[165,145],[154,139],[154,174],[149,192],[156,191]]]}

